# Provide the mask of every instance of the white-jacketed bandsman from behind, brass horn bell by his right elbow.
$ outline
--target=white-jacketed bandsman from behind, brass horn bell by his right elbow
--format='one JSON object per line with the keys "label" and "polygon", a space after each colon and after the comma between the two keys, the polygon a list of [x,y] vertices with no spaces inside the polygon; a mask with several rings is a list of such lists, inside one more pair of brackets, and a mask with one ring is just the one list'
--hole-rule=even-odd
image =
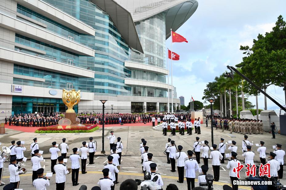
{"label": "white-jacketed bandsman from behind, brass horn bell by his right elbow", "polygon": [[66,164],[63,164],[64,157],[58,157],[58,164],[54,166],[53,171],[56,172],[56,190],[65,189],[66,183],[66,174],[68,174],[68,170]]}

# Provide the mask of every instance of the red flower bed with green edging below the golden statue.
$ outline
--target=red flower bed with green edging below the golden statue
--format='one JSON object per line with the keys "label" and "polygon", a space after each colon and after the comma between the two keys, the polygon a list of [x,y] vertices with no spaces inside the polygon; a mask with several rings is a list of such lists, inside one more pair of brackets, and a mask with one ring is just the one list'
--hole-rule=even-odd
{"label": "red flower bed with green edging below the golden statue", "polygon": [[71,127],[70,129],[58,129],[58,127],[40,127],[35,133],[91,133],[99,129],[97,125],[85,127]]}

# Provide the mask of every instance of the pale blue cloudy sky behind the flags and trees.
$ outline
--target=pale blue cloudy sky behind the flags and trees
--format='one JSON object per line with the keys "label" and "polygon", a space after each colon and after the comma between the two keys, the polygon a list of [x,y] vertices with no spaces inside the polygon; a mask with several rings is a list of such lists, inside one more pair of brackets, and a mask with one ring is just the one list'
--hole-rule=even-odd
{"label": "pale blue cloudy sky behind the flags and trees", "polygon": [[[251,47],[259,33],[272,30],[280,14],[286,20],[284,0],[197,1],[195,13],[176,31],[189,42],[173,43],[173,52],[180,55],[179,61],[173,61],[173,85],[177,97],[185,97],[185,104],[191,95],[203,102],[206,84],[224,73],[227,65],[235,66],[242,61],[244,54],[239,50],[240,45]],[[170,48],[170,38],[166,46]],[[267,91],[285,105],[282,88],[272,85]],[[255,97],[250,96],[248,100],[256,105]],[[267,106],[278,109],[269,99]],[[258,97],[258,108],[264,109],[264,95]]]}

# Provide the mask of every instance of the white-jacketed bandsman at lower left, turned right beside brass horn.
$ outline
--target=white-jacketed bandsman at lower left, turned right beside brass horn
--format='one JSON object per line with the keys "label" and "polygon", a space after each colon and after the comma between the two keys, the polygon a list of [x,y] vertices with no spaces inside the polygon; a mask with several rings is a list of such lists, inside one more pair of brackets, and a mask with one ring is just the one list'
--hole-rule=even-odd
{"label": "white-jacketed bandsman at lower left, turned right beside brass horn", "polygon": [[11,160],[11,164],[9,164],[8,169],[10,172],[10,183],[14,184],[14,188],[13,189],[18,189],[19,188],[19,184],[20,184],[20,177],[19,174],[24,173],[24,168],[22,168],[20,171],[18,171],[18,166],[16,165],[16,159],[17,157],[14,156],[12,158],[10,158]]}

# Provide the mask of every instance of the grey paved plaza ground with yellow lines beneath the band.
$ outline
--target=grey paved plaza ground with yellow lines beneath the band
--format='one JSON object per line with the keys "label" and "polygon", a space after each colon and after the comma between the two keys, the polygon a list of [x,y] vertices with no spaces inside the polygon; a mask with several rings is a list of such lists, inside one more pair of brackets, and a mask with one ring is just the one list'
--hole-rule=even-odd
{"label": "grey paved plaza ground with yellow lines beneath the band", "polygon": [[[72,186],[71,181],[71,174],[67,176],[66,180],[66,189],[79,189],[80,185],[85,184],[87,185],[88,189],[91,189],[93,186],[97,186],[97,182],[99,178],[102,177],[101,170],[103,169],[103,166],[105,163],[107,163],[107,156],[109,150],[109,141],[106,139],[106,136],[110,134],[110,131],[114,131],[114,135],[116,137],[121,137],[121,141],[124,145],[124,149],[122,151],[122,158],[121,158],[121,169],[120,173],[118,174],[118,181],[119,184],[115,185],[115,189],[119,189],[119,186],[122,181],[126,179],[141,179],[143,180],[143,173],[142,173],[142,167],[141,167],[141,158],[140,158],[140,151],[139,151],[139,144],[141,143],[141,138],[144,138],[147,141],[147,146],[149,146],[149,152],[153,153],[153,161],[157,163],[158,171],[157,173],[161,173],[164,186],[163,189],[166,188],[168,184],[176,184],[179,189],[187,189],[187,182],[184,180],[183,184],[177,183],[178,175],[177,172],[170,172],[171,165],[167,164],[167,158],[163,154],[163,151],[165,150],[165,144],[167,142],[168,138],[171,138],[175,141],[176,145],[182,145],[183,151],[187,152],[187,150],[193,150],[193,143],[195,141],[195,137],[200,137],[200,141],[207,140],[211,144],[211,128],[205,127],[205,124],[201,127],[201,135],[193,134],[191,136],[171,136],[170,133],[168,133],[167,136],[163,136],[161,131],[155,131],[152,129],[152,126],[150,125],[144,125],[141,124],[141,126],[128,126],[128,124],[121,125],[121,126],[110,126],[105,128],[105,151],[106,155],[102,155],[100,152],[102,150],[102,128],[99,130],[93,132],[93,133],[49,133],[49,134],[38,134],[38,133],[25,133],[22,131],[16,131],[13,129],[6,129],[6,133],[4,135],[0,136],[0,142],[3,146],[9,146],[10,141],[15,140],[21,140],[25,141],[27,151],[24,153],[24,155],[27,158],[30,158],[30,144],[33,142],[33,138],[38,138],[38,144],[40,147],[40,150],[44,151],[43,157],[46,157],[45,162],[42,162],[42,167],[45,168],[45,172],[51,171],[50,169],[50,153],[49,148],[52,146],[51,143],[53,141],[56,141],[57,143],[62,142],[62,138],[66,138],[66,142],[68,143],[70,150],[72,148],[79,148],[81,147],[81,143],[83,141],[88,141],[89,137],[93,137],[93,140],[97,141],[97,152],[95,154],[95,164],[93,165],[87,165],[86,171],[88,173],[81,174],[79,173],[79,185],[76,187]],[[226,141],[234,140],[237,142],[238,145],[238,158],[242,159],[242,140],[243,140],[242,134],[238,133],[232,133],[230,134],[229,131],[222,132],[221,129],[215,130],[214,129],[214,143],[219,144],[220,137],[223,137]],[[264,141],[265,146],[267,147],[266,152],[271,152],[273,150],[272,145],[275,145],[276,143],[282,144],[282,149],[285,149],[286,147],[286,138],[282,135],[276,135],[276,139],[272,139],[272,135],[270,133],[264,133],[263,135],[248,135],[248,140],[253,141],[253,150],[255,152],[255,160],[259,160],[259,153],[257,152],[257,147],[255,146],[256,143],[259,143],[259,141]],[[226,153],[228,151],[226,150]],[[71,151],[68,152],[68,155],[72,154]],[[211,168],[211,161],[209,160],[209,172],[210,174],[213,174],[212,168]],[[221,165],[220,168],[220,181],[214,182],[214,189],[222,189],[222,186],[224,184],[229,184],[229,170],[226,168],[228,161],[225,161],[224,164]],[[89,161],[87,160],[87,163]],[[2,181],[4,183],[9,183],[9,172],[8,172],[8,162],[4,164],[4,173]],[[203,164],[203,160],[201,159],[201,164]],[[259,162],[260,164],[260,162]],[[71,166],[70,160],[67,162],[67,166]],[[23,189],[29,189],[34,187],[32,186],[32,165],[31,162],[28,160],[26,162],[26,168],[28,172],[26,174],[20,175],[20,186],[19,188]],[[245,169],[244,169],[245,171]],[[286,171],[285,171],[286,172]],[[284,172],[284,173],[285,173]],[[197,176],[200,173],[196,173],[196,186],[197,185]],[[241,175],[242,174],[242,175]],[[240,172],[240,175],[242,178],[245,177],[244,172]],[[283,177],[280,182],[284,185],[286,185],[286,176]],[[51,177],[50,180],[50,187],[48,189],[55,189],[55,175]],[[140,189],[140,188],[138,188]],[[250,187],[240,187],[239,189],[248,189],[250,190]]]}

